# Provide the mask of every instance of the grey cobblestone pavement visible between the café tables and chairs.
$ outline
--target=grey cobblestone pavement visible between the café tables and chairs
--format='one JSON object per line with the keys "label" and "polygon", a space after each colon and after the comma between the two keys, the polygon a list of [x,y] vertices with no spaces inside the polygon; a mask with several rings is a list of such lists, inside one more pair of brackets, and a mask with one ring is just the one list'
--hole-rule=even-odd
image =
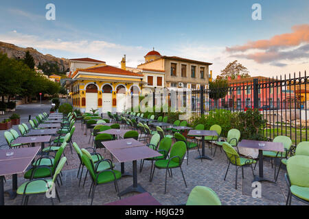
{"label": "grey cobblestone pavement visible between the caf\u00e9 tables and chairs", "polygon": [[[89,147],[89,133],[84,136],[84,131],[81,129],[80,122],[76,123],[76,133],[73,135],[73,142],[77,142],[80,148]],[[210,155],[210,150],[206,148],[206,154]],[[110,157],[108,151],[104,153],[104,149],[99,149],[99,153],[102,153],[106,158]],[[87,179],[84,186],[78,187],[78,179],[76,178],[77,169],[79,165],[78,156],[76,152],[71,151],[69,147],[65,149],[65,155],[69,165],[65,165],[62,170],[63,185],[58,187],[61,203],[55,199],[56,205],[89,205],[91,198],[88,198],[88,192],[91,185],[91,180]],[[212,161],[200,159],[194,159],[198,155],[198,151],[190,151],[189,153],[189,165],[186,161],[183,162],[183,172],[185,180],[187,182],[187,188],[181,176],[180,169],[173,169],[173,177],[168,177],[167,193],[164,194],[164,180],[165,170],[156,170],[155,176],[152,182],[149,182],[150,176],[150,162],[145,162],[143,171],[138,172],[138,182],[143,186],[152,196],[163,205],[178,205],[185,203],[190,191],[196,185],[204,185],[218,194],[222,205],[285,205],[286,195],[288,189],[284,180],[285,170],[280,171],[279,179],[276,184],[263,182],[262,183],[262,198],[253,198],[251,196],[251,181],[253,175],[251,168],[244,168],[244,179],[242,179],[241,169],[238,171],[238,190],[235,189],[235,166],[229,168],[226,181],[223,180],[225,171],[227,170],[227,158],[225,153],[220,153],[217,150],[216,157]],[[115,162],[115,159],[114,159]],[[137,163],[139,167],[139,162]],[[115,169],[120,170],[120,164],[115,164]],[[125,164],[126,172],[132,172],[132,162]],[[255,170],[255,175],[258,175],[258,166]],[[271,168],[270,162],[264,161],[264,175],[268,179],[273,179],[273,169]],[[12,187],[12,181],[9,177],[6,177],[7,182],[5,183],[5,190]],[[83,177],[84,179],[84,177]],[[82,179],[82,180],[83,180]],[[23,175],[19,175],[19,185],[25,182]],[[123,177],[118,181],[119,189],[122,191],[129,185],[133,184],[132,177]],[[122,196],[132,196],[134,193],[126,194]],[[266,197],[266,198],[265,198]],[[95,198],[93,205],[103,205],[112,201],[117,201],[117,195],[115,187],[112,184],[98,185],[95,191]],[[5,197],[5,205],[20,205],[21,196],[17,196],[14,200],[10,200]],[[51,201],[45,197],[45,195],[31,196],[29,205],[50,205]],[[293,205],[299,205],[298,201],[293,198]]]}

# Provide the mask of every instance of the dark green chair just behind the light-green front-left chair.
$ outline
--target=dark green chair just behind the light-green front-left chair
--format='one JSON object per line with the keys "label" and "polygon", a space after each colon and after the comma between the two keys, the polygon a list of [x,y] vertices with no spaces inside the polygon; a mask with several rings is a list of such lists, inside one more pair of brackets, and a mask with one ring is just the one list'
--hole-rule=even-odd
{"label": "dark green chair just behind the light-green front-left chair", "polygon": [[[27,172],[25,172],[25,175],[23,175],[23,177],[25,179],[30,179],[30,180],[52,177],[59,164],[61,156],[63,152],[65,151],[66,146],[67,146],[67,142],[63,142],[63,144],[60,146],[60,149],[57,151],[55,157],[49,155],[49,156],[44,156],[44,157],[40,157],[36,159],[36,162],[34,162],[34,165],[32,165],[32,168],[30,170],[27,170]],[[60,178],[60,181],[61,181],[61,178]],[[61,181],[61,184],[62,184],[62,181]]]}

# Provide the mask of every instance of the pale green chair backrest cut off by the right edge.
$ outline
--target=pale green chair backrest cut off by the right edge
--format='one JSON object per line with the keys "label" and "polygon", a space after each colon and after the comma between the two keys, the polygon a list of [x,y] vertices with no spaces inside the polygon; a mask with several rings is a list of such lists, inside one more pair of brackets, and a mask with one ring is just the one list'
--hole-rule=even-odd
{"label": "pale green chair backrest cut off by the right edge", "polygon": [[309,156],[297,155],[288,158],[286,170],[291,185],[309,188]]}

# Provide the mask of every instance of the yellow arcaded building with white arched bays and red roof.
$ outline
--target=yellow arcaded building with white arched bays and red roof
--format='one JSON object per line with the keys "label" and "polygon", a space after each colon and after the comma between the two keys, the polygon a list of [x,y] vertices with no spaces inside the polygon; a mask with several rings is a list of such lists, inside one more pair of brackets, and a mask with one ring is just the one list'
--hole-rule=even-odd
{"label": "yellow arcaded building with white arched bays and red roof", "polygon": [[69,66],[91,65],[69,73],[73,108],[82,113],[91,109],[98,109],[99,113],[124,112],[128,108],[124,97],[141,93],[144,75],[95,61],[89,58],[70,60]]}

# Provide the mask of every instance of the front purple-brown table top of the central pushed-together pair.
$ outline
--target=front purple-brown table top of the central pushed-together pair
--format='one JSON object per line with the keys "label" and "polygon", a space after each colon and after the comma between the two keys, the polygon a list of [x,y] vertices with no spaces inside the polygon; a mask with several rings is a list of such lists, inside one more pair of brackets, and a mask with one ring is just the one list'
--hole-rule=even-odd
{"label": "front purple-brown table top of the central pushed-together pair", "polygon": [[150,149],[148,146],[135,146],[125,149],[112,149],[108,151],[111,152],[117,161],[121,163],[162,156],[161,153]]}

